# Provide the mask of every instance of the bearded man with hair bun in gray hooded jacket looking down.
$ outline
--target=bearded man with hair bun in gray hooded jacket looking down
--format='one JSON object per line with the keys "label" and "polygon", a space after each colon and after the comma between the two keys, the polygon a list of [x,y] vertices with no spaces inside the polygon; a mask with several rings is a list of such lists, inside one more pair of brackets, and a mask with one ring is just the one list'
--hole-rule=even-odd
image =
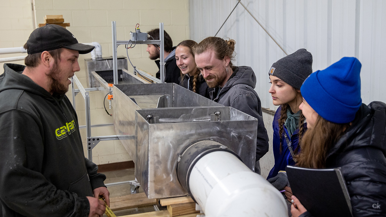
{"label": "bearded man with hair bun in gray hooded jacket looking down", "polygon": [[235,41],[207,37],[193,47],[197,68],[215,88],[210,98],[257,118],[257,144],[255,172],[261,173],[259,159],[268,152],[268,135],[264,127],[261,103],[255,92],[256,75],[249,66],[234,66]]}

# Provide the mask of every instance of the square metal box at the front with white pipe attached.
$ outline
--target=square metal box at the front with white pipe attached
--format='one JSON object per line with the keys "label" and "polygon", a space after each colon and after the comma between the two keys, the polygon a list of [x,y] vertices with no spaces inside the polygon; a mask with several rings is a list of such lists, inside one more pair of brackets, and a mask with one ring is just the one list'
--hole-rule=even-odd
{"label": "square metal box at the front with white pipe attached", "polygon": [[[220,120],[216,112],[220,112]],[[232,107],[142,109],[135,112],[135,119],[135,176],[149,198],[188,194],[178,181],[176,168],[179,155],[197,141],[213,140],[229,147],[254,170],[257,119],[239,110]]]}

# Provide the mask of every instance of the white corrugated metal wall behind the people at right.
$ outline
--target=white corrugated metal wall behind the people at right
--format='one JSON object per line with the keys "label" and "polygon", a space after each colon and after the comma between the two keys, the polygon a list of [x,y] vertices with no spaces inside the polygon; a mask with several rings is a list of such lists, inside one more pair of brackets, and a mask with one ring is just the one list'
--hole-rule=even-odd
{"label": "white corrugated metal wall behind the people at right", "polygon": [[[241,3],[291,54],[306,48],[313,71],[344,56],[362,63],[362,101],[386,102],[386,1],[382,0],[241,0]],[[214,36],[237,0],[190,0],[190,38]],[[268,93],[268,70],[286,54],[239,4],[217,34],[234,39],[236,65],[251,66],[262,107],[276,110]]]}

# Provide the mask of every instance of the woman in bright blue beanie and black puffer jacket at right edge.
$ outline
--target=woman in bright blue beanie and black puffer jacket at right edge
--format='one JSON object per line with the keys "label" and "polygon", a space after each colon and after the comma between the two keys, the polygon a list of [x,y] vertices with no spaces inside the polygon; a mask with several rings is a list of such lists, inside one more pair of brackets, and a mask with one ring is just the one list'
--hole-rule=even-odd
{"label": "woman in bright blue beanie and black puffer jacket at right edge", "polygon": [[[358,59],[344,57],[304,81],[300,109],[308,131],[297,165],[340,167],[353,216],[386,216],[386,104],[362,103],[360,71]],[[312,216],[292,199],[292,216]]]}

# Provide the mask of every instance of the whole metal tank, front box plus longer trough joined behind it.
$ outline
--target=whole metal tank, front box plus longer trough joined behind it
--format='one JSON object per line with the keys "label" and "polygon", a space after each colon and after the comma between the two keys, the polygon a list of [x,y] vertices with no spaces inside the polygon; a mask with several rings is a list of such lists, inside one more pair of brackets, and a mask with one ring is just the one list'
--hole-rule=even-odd
{"label": "whole metal tank, front box plus longer trough joined behind it", "polygon": [[113,95],[114,129],[135,162],[135,176],[147,197],[188,194],[177,178],[178,158],[201,140],[232,149],[254,171],[254,117],[172,83],[114,85]]}

